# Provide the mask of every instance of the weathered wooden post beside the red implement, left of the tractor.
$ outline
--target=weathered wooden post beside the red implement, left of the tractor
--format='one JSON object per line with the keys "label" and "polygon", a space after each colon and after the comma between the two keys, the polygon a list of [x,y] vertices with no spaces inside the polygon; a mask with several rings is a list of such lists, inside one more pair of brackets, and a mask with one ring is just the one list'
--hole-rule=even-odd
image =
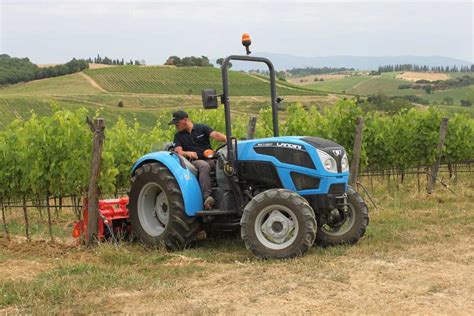
{"label": "weathered wooden post beside the red implement, left of the tractor", "polygon": [[91,131],[94,133],[94,143],[92,146],[92,163],[91,163],[91,175],[89,180],[89,191],[87,194],[88,197],[88,211],[89,218],[87,222],[87,236],[86,236],[86,245],[92,246],[97,239],[97,229],[98,229],[98,208],[99,208],[99,175],[100,175],[100,164],[102,158],[102,149],[104,144],[104,129],[105,129],[105,120],[103,118],[97,118],[94,120],[94,123],[91,122],[89,117],[87,118],[87,123]]}

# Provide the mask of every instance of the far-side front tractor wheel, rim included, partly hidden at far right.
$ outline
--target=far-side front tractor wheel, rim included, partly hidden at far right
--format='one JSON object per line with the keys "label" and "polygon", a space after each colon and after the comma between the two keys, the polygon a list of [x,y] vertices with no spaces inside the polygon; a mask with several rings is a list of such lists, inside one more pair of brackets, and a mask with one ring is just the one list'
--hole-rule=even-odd
{"label": "far-side front tractor wheel, rim included, partly hidden at far right", "polygon": [[369,225],[367,204],[360,194],[349,186],[347,206],[345,209],[334,209],[329,212],[325,221],[319,220],[316,244],[326,247],[342,244],[355,244],[365,233]]}

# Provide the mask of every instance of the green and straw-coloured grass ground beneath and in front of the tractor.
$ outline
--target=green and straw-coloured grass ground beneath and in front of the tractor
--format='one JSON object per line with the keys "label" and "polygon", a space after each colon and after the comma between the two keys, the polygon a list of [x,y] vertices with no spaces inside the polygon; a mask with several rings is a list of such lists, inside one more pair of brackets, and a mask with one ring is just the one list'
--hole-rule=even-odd
{"label": "green and straw-coloured grass ground beneath and in front of the tractor", "polygon": [[[291,306],[304,312],[323,311],[318,304],[336,296],[351,297],[357,313],[462,313],[474,293],[474,182],[466,175],[451,183],[456,195],[439,185],[432,195],[417,193],[415,182],[407,177],[397,191],[376,181],[379,209],[369,204],[371,222],[356,245],[313,247],[292,260],[258,260],[239,239],[201,240],[166,252],[139,244],[86,249],[64,239],[28,244],[0,238],[6,269],[0,311],[241,314]],[[13,218],[7,212],[9,222]]]}

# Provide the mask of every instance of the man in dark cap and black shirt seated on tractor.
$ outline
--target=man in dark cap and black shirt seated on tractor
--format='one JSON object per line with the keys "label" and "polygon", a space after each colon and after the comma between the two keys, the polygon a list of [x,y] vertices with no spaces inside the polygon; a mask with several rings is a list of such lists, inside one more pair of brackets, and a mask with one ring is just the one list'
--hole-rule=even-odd
{"label": "man in dark cap and black shirt seated on tractor", "polygon": [[194,124],[188,113],[182,110],[173,113],[169,125],[175,125],[177,130],[174,135],[174,150],[178,155],[189,159],[198,170],[204,208],[211,209],[214,206],[214,198],[211,196],[210,173],[215,170],[216,164],[214,160],[204,156],[204,151],[212,149],[209,137],[219,142],[226,142],[227,138],[205,124]]}

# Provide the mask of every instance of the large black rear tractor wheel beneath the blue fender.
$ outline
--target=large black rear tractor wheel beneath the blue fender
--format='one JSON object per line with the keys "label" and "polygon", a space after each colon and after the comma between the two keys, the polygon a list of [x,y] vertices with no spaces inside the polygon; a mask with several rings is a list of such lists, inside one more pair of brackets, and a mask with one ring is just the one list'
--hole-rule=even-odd
{"label": "large black rear tractor wheel beneath the blue fender", "polygon": [[[147,198],[148,194],[150,197]],[[155,206],[150,207],[153,200]],[[160,212],[156,210],[158,200],[163,203]],[[148,163],[135,171],[131,178],[128,211],[133,233],[147,246],[183,249],[196,239],[200,229],[197,219],[184,212],[183,197],[176,179],[160,163]],[[165,216],[167,222],[160,221],[158,214]],[[156,224],[163,226],[162,231]]]}

